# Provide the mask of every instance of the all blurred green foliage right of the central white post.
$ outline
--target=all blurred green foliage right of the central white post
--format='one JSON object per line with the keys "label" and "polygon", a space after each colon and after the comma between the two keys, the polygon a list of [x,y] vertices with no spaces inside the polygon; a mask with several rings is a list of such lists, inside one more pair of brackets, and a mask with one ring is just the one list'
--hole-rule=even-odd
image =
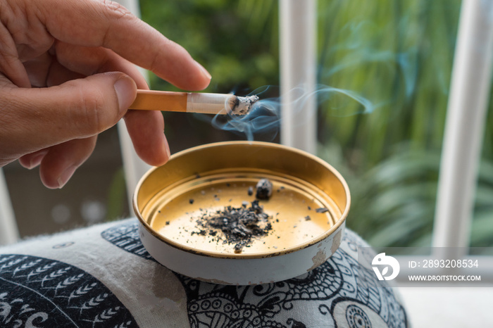
{"label": "all blurred green foliage right of the central white post", "polygon": [[[319,155],[339,158],[349,181],[348,225],[375,246],[429,246],[461,2],[319,4],[320,82],[373,103],[368,111],[333,97],[320,106]],[[493,244],[491,113],[471,246]]]}

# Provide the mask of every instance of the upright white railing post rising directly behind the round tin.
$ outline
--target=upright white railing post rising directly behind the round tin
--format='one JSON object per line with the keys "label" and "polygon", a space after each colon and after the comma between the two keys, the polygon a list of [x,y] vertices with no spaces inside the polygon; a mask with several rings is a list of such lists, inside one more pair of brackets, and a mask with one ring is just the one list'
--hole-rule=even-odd
{"label": "upright white railing post rising directly behind the round tin", "polygon": [[[310,153],[316,152],[317,132],[316,4],[279,0],[281,143]],[[295,88],[301,88],[302,101]]]}

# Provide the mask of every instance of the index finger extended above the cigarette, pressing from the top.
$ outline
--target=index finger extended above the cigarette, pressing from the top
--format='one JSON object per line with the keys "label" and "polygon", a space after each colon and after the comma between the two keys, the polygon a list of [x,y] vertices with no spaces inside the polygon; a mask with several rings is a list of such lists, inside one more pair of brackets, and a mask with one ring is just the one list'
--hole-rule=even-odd
{"label": "index finger extended above the cigarette, pressing from the top", "polygon": [[108,0],[35,1],[49,33],[63,42],[104,46],[180,89],[208,86],[211,75],[179,44]]}

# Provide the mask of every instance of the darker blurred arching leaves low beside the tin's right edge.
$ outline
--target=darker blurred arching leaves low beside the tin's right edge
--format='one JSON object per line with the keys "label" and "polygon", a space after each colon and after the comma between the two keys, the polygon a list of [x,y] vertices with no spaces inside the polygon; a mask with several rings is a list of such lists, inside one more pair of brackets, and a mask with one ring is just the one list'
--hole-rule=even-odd
{"label": "darker blurred arching leaves low beside the tin's right edge", "polygon": [[[399,151],[364,174],[347,168],[339,145],[328,144],[320,157],[342,172],[351,189],[348,226],[373,246],[430,246],[437,197],[439,153]],[[484,159],[478,172],[478,189],[470,245],[493,245],[493,163]]]}

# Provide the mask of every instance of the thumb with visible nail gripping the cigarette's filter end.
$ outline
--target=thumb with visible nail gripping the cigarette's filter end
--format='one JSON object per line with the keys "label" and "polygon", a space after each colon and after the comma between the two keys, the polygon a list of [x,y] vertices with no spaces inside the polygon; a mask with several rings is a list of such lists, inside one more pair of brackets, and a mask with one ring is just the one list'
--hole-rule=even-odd
{"label": "thumb with visible nail gripping the cigarette's filter end", "polygon": [[121,72],[106,72],[55,87],[4,91],[0,108],[7,115],[0,117],[0,149],[20,152],[20,157],[112,127],[134,101],[137,86]]}

